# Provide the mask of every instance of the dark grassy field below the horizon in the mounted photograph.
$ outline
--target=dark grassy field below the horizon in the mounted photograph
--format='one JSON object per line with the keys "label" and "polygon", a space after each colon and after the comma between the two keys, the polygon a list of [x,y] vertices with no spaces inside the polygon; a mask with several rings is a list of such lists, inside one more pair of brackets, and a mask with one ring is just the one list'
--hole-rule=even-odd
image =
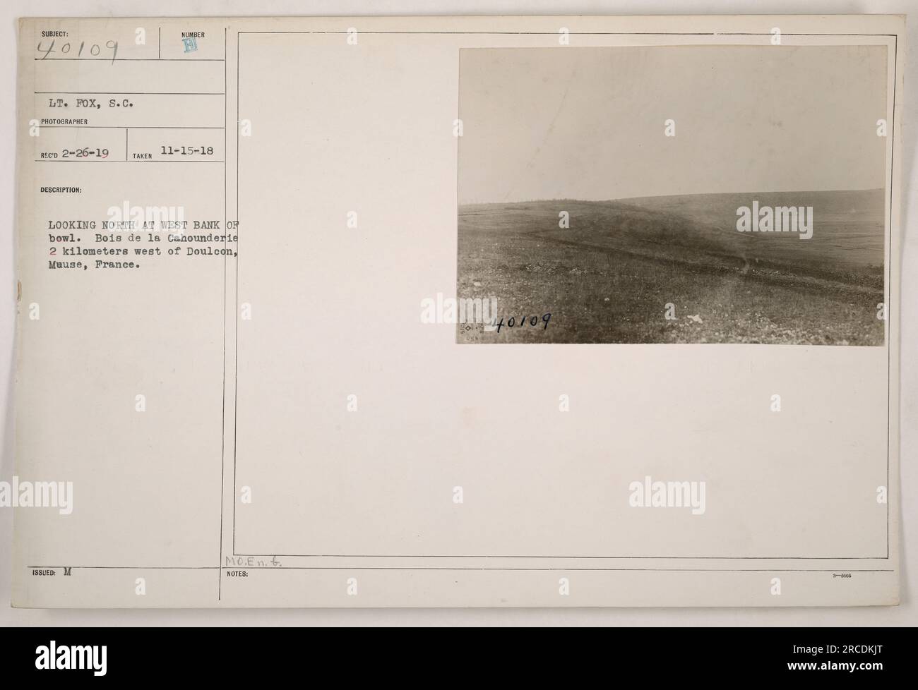
{"label": "dark grassy field below the horizon in the mounted photograph", "polygon": [[[754,199],[813,206],[812,239],[738,232]],[[457,341],[880,345],[883,208],[882,190],[460,206],[457,296],[496,297],[505,325]]]}

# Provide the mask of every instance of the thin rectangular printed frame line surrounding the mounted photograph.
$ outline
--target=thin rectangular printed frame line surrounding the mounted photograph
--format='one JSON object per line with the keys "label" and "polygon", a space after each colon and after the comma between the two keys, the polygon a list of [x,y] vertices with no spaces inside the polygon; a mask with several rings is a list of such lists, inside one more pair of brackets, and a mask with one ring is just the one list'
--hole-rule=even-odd
{"label": "thin rectangular printed frame line surrounding the mounted photograph", "polygon": [[[531,36],[556,36],[555,32],[548,31],[362,31],[360,33],[370,34],[370,35],[499,35],[499,36],[521,36],[521,35],[531,35]],[[742,33],[742,32],[643,32],[643,31],[633,31],[633,32],[570,32],[574,36],[771,36],[770,33]],[[347,34],[347,31],[237,31],[236,32],[236,222],[239,223],[239,170],[240,170],[240,147],[239,147],[239,116],[240,116],[240,36],[241,34]],[[898,64],[899,64],[899,35],[898,34],[827,34],[827,33],[784,33],[784,36],[809,36],[809,37],[860,37],[860,38],[892,38],[894,39],[893,43],[893,82],[892,82],[892,114],[891,114],[891,124],[892,124],[892,133],[890,135],[890,210],[887,218],[887,226],[889,228],[888,233],[888,251],[887,251],[887,262],[886,262],[886,292],[889,294],[889,303],[887,304],[887,330],[889,331],[885,338],[885,345],[887,348],[887,432],[886,432],[886,486],[887,492],[890,488],[890,407],[891,407],[891,352],[892,352],[892,343],[891,343],[891,328],[889,328],[891,302],[892,302],[892,285],[890,282],[891,278],[891,254],[892,254],[892,198],[894,193],[894,180],[895,180],[895,111],[896,111],[896,86],[898,80]],[[687,44],[694,45],[694,44]],[[702,45],[702,44],[699,44]],[[707,45],[707,44],[704,44]],[[526,46],[527,48],[535,48],[535,46]],[[582,48],[614,48],[617,46],[580,46]],[[628,48],[630,46],[623,46]],[[640,47],[640,46],[634,46]],[[655,48],[656,46],[648,46],[650,48]],[[499,47],[498,47],[499,48]],[[514,47],[508,47],[512,49]],[[459,48],[457,50],[463,50]],[[465,49],[469,50],[469,49]],[[475,50],[475,49],[471,49]],[[226,53],[224,52],[224,57]],[[889,76],[889,61],[887,61],[887,76]],[[224,89],[225,90],[225,89]],[[224,155],[224,158],[226,156]],[[240,268],[240,256],[239,256],[239,247],[240,243],[237,240],[237,259],[236,259],[236,301],[239,302],[239,268]],[[224,281],[224,295],[226,294],[226,282]],[[236,553],[236,467],[237,467],[237,452],[236,452],[236,430],[237,430],[237,420],[238,420],[238,401],[239,401],[239,323],[236,323],[236,349],[234,352],[235,357],[235,380],[236,385],[234,386],[234,397],[235,402],[233,405],[233,527],[232,527],[232,556],[248,556],[248,555],[259,555],[259,554],[240,554]],[[226,358],[224,357],[224,360]],[[722,560],[832,560],[832,561],[879,561],[879,560],[889,560],[890,559],[890,504],[889,498],[887,499],[886,504],[886,555],[885,556],[845,556],[845,557],[831,557],[831,556],[426,556],[426,555],[413,555],[413,556],[373,556],[373,555],[341,555],[341,554],[330,554],[327,556],[321,556],[319,554],[263,554],[263,555],[275,555],[282,556],[285,558],[584,558],[584,559],[642,559],[646,558],[648,560],[655,559],[698,559],[698,560],[707,560],[707,559],[722,559]],[[283,568],[276,568],[274,570],[283,570]],[[407,568],[406,570],[420,570],[418,568]],[[478,570],[478,569],[475,569]],[[666,570],[666,569],[661,569]],[[728,571],[717,571],[717,572],[728,572]],[[893,572],[893,571],[890,571]]]}

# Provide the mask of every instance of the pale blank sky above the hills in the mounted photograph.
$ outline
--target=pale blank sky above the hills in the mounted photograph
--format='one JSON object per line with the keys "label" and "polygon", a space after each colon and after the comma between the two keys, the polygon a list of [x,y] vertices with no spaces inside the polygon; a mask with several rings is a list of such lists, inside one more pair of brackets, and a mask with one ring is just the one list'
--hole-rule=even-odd
{"label": "pale blank sky above the hills in the mounted photograph", "polygon": [[459,202],[882,187],[886,74],[883,46],[462,50]]}

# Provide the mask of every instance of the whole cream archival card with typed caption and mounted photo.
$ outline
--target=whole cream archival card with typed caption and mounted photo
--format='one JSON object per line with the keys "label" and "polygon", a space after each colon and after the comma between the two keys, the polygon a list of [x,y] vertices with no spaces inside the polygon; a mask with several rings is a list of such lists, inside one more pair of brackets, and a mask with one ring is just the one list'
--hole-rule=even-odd
{"label": "whole cream archival card with typed caption and mounted photo", "polygon": [[22,20],[14,605],[895,605],[903,51]]}

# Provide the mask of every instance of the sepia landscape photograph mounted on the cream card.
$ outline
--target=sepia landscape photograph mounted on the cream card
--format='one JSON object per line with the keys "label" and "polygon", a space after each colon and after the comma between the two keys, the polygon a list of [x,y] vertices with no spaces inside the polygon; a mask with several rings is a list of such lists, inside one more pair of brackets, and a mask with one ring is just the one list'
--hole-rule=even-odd
{"label": "sepia landscape photograph mounted on the cream card", "polygon": [[887,60],[462,50],[457,342],[882,345]]}

